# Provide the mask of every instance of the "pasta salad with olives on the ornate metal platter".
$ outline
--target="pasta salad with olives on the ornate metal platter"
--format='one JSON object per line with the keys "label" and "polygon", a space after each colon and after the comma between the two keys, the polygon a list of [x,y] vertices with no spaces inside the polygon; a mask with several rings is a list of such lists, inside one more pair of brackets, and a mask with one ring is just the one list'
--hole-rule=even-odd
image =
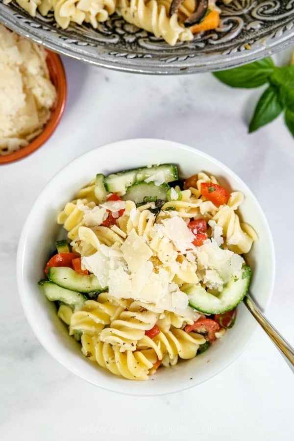
{"label": "pasta salad with olives on the ornate metal platter", "polygon": [[[3,0],[10,3],[12,0]],[[217,0],[16,0],[32,17],[54,13],[56,23],[67,29],[71,23],[93,28],[114,13],[130,24],[163,38],[169,45],[191,41],[194,34],[216,29],[221,9]],[[232,0],[221,0],[228,4]]]}

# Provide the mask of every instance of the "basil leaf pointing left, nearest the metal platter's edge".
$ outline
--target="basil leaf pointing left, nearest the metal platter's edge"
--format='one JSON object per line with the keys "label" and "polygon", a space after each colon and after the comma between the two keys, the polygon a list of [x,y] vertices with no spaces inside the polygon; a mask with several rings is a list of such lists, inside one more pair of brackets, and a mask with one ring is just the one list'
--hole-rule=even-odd
{"label": "basil leaf pointing left, nearest the metal platter's edge", "polygon": [[276,67],[271,57],[254,61],[226,71],[214,72],[214,76],[222,83],[231,87],[253,88],[268,82],[270,75]]}

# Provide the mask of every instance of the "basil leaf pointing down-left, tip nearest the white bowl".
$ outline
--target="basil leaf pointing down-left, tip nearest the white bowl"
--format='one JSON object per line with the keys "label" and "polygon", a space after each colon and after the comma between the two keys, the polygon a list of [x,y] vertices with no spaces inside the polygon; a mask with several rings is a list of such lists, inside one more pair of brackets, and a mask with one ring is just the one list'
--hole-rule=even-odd
{"label": "basil leaf pointing down-left, tip nearest the white bowl", "polygon": [[254,132],[259,127],[270,123],[283,111],[277,91],[269,86],[256,104],[252,120],[249,124],[249,133]]}

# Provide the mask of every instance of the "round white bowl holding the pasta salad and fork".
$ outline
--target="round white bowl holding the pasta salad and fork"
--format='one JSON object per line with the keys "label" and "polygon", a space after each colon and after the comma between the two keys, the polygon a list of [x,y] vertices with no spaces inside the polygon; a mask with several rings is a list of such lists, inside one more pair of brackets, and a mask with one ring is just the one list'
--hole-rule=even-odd
{"label": "round white bowl holding the pasta salad and fork", "polygon": [[18,248],[17,281],[26,318],[47,351],[81,378],[106,390],[131,395],[160,395],[177,392],[208,380],[230,365],[245,349],[258,324],[243,304],[238,307],[235,326],[222,340],[196,358],[172,368],[161,368],[147,381],[117,377],[87,360],[56,315],[55,305],[39,291],[49,250],[61,227],[56,216],[76,192],[96,173],[108,174],[151,163],[175,163],[182,177],[200,171],[216,176],[231,190],[241,190],[245,201],[240,212],[259,240],[248,254],[253,277],[250,291],[262,308],[269,301],[274,280],[274,251],[265,215],[245,183],[226,166],[207,154],[178,143],[157,139],[132,139],[98,147],[73,160],[58,172],[40,193],[25,222]]}

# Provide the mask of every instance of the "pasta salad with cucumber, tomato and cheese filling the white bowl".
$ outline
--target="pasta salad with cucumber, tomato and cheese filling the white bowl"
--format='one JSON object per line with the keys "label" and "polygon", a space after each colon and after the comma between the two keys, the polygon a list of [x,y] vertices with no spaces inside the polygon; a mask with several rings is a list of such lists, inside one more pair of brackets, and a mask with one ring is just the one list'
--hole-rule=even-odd
{"label": "pasta salad with cucumber, tomato and cheese filling the white bowl", "polygon": [[196,357],[233,326],[257,240],[244,200],[204,172],[162,164],[97,174],[59,213],[42,292],[86,358],[146,380]]}

